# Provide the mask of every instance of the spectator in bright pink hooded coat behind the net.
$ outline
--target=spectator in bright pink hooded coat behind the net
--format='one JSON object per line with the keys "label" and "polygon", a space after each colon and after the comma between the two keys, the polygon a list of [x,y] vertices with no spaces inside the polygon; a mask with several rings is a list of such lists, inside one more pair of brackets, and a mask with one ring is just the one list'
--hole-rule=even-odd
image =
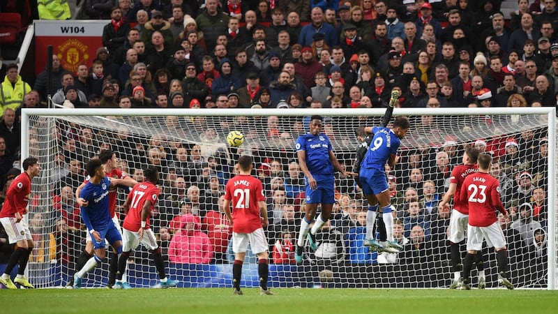
{"label": "spectator in bright pink hooded coat behind the net", "polygon": [[[211,1],[211,0],[209,0]],[[169,243],[169,262],[179,264],[209,264],[213,247],[207,234],[193,214],[181,217],[181,227]]]}

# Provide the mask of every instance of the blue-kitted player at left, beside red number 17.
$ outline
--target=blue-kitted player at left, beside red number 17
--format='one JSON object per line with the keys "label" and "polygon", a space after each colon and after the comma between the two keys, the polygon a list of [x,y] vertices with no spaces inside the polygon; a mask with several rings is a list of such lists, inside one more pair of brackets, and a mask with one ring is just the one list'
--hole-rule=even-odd
{"label": "blue-kitted player at left, beside red number 17", "polygon": [[109,211],[108,195],[109,190],[114,188],[114,183],[107,178],[103,163],[97,158],[89,160],[86,170],[91,177],[81,189],[80,198],[87,204],[81,207],[81,215],[87,231],[91,234],[91,238],[93,238],[95,255],[74,275],[74,289],[79,289],[82,285],[83,276],[105,259],[107,254],[105,251],[105,239],[107,239],[118,256],[122,253],[122,236],[119,229],[112,222]]}

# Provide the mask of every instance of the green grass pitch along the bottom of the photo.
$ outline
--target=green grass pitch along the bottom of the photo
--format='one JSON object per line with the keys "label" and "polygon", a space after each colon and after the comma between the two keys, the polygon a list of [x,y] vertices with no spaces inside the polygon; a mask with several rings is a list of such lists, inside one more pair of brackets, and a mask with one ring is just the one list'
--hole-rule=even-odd
{"label": "green grass pitch along the bottom of the photo", "polygon": [[558,313],[558,291],[393,289],[0,290],[0,313]]}

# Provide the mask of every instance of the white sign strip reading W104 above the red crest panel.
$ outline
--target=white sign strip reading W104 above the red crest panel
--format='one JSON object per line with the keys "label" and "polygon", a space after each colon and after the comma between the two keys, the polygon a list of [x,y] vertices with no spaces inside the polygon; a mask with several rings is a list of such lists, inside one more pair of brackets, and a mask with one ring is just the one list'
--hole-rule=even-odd
{"label": "white sign strip reading W104 above the red crest panel", "polygon": [[110,20],[36,21],[35,36],[101,36]]}

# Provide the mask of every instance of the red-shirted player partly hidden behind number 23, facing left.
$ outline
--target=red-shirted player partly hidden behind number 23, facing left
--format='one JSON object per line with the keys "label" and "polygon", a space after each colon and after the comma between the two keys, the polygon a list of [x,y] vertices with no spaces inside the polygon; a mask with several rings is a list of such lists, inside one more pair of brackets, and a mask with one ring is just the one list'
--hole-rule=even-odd
{"label": "red-shirted player partly hidden behind number 23, facing left", "polygon": [[[449,202],[453,196],[453,209],[449,220],[448,241],[451,253],[451,268],[453,269],[453,281],[449,285],[450,289],[455,289],[461,285],[461,253],[459,251],[460,243],[465,240],[465,232],[467,231],[467,223],[469,222],[469,206],[467,199],[460,198],[461,187],[465,178],[472,173],[477,172],[476,159],[478,158],[478,149],[469,147],[465,149],[462,158],[462,165],[455,166],[451,170],[449,188],[442,197],[442,201],[438,204],[438,210],[449,207]],[[484,274],[482,253],[475,255],[475,264],[478,269],[478,288],[486,287],[486,279]]]}

